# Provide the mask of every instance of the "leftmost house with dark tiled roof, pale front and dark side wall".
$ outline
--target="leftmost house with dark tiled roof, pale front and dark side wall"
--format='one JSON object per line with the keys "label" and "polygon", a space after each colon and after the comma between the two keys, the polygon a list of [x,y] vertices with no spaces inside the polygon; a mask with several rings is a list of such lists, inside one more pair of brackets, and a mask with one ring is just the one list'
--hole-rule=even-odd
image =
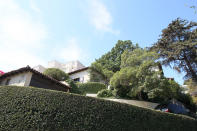
{"label": "leftmost house with dark tiled roof, pale front and dark side wall", "polygon": [[40,73],[29,66],[7,72],[0,76],[0,86],[33,86],[37,88],[51,89],[69,92],[68,85],[57,81],[43,73]]}

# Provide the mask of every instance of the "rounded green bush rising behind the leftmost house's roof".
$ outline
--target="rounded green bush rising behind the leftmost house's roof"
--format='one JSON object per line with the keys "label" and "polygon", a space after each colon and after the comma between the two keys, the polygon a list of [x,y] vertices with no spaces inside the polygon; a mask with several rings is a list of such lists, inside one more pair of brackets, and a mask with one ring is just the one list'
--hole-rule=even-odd
{"label": "rounded green bush rising behind the leftmost house's roof", "polygon": [[66,74],[64,71],[57,69],[57,68],[48,68],[43,73],[58,81],[65,81],[69,79],[68,74]]}

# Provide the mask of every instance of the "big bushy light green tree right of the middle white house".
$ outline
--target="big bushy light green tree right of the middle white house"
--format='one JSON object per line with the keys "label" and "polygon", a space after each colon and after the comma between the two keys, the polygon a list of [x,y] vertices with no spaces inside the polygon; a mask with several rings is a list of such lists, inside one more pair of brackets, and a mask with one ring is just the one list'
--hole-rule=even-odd
{"label": "big bushy light green tree right of the middle white house", "polygon": [[121,97],[137,97],[143,99],[143,94],[157,88],[162,72],[156,71],[157,54],[145,49],[125,51],[121,58],[121,70],[116,72],[110,84]]}

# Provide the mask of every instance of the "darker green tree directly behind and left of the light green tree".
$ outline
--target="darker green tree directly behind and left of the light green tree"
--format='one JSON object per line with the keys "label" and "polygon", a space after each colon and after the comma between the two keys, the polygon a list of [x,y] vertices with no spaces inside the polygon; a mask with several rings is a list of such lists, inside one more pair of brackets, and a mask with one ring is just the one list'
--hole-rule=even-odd
{"label": "darker green tree directly behind and left of the light green tree", "polygon": [[136,48],[139,48],[138,45],[133,45],[130,40],[119,40],[111,51],[91,64],[90,80],[95,82],[103,81],[108,84],[113,74],[120,70],[122,53],[125,50],[132,51]]}

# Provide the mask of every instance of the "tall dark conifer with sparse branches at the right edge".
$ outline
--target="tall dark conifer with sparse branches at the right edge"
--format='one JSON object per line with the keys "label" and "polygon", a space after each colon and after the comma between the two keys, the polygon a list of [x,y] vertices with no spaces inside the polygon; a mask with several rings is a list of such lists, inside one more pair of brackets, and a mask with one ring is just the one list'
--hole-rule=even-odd
{"label": "tall dark conifer with sparse branches at the right edge", "polygon": [[183,19],[172,21],[162,30],[151,50],[159,53],[162,64],[185,72],[185,78],[197,81],[197,23]]}

